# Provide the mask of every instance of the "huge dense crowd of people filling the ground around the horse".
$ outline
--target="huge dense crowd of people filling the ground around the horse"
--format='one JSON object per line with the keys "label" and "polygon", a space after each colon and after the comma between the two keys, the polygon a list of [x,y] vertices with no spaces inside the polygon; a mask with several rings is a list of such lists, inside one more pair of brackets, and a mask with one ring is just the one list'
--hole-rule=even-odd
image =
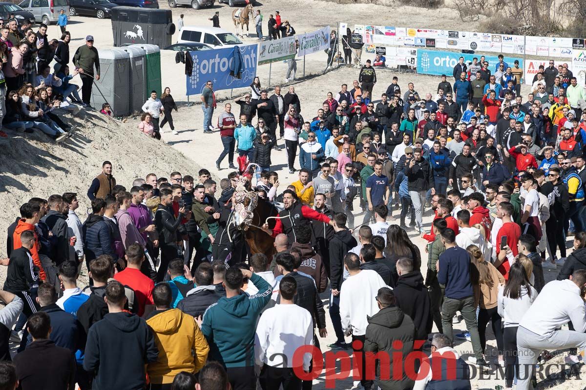
{"label": "huge dense crowd of people filling the ground around the horse", "polygon": [[[97,65],[92,44],[88,36],[78,50],[82,80],[93,78],[88,58]],[[74,192],[22,204],[8,227],[0,291],[0,354],[12,360],[0,363],[0,388],[309,389],[303,373],[322,356],[295,352],[319,350],[328,336],[324,292],[336,337],[329,349],[390,357],[374,378],[372,362],[356,364],[355,385],[366,390],[469,389],[468,364],[504,367],[505,387],[525,390],[544,350],[567,349],[565,363],[579,364],[586,92],[550,61],[523,101],[519,68],[502,56],[493,65],[461,58],[453,83],[442,75],[437,90],[421,95],[413,82],[402,91],[394,77],[375,102],[376,73],[366,61],[352,88],[343,84],[304,111],[294,86],[270,94],[255,78],[234,101],[238,120],[226,103],[216,126],[207,82],[203,129],[220,129],[216,168],[227,156],[230,169],[220,189],[206,168],[149,173],[125,187],[104,161],[83,195],[87,217],[76,212]],[[44,85],[64,82],[47,64],[33,71]],[[50,95],[25,85],[28,103],[36,89],[40,103]],[[17,92],[8,95],[7,108],[20,102]],[[175,131],[172,109],[169,88],[160,99],[153,91],[139,129],[160,137],[169,122]],[[285,189],[271,160],[281,139],[289,173],[298,174]],[[237,221],[260,205],[274,222],[241,229]],[[426,207],[434,213],[428,228]],[[267,241],[274,244],[264,253]],[[557,265],[557,280],[546,283],[544,268]],[[466,330],[454,334],[461,319]],[[487,346],[488,323],[496,349]],[[454,338],[471,341],[466,361]],[[394,360],[397,352],[430,359]],[[437,359],[452,361],[426,371]]]}

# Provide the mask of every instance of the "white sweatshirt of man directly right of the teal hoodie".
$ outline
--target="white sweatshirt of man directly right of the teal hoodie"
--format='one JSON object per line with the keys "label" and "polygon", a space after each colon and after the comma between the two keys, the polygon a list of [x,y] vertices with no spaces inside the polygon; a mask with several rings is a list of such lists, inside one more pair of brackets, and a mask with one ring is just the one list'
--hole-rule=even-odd
{"label": "white sweatshirt of man directly right of the teal hoodie", "polygon": [[[299,367],[293,361],[297,348],[314,345],[314,322],[311,314],[297,305],[275,305],[265,310],[254,335],[256,364],[271,367]],[[303,355],[303,369],[309,370],[311,352]]]}

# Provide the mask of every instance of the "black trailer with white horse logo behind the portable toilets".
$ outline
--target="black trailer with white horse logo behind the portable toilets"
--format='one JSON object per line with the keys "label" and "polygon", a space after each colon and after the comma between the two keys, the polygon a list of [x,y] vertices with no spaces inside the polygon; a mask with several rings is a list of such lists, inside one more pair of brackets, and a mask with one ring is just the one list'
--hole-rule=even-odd
{"label": "black trailer with white horse logo behind the portable toilets", "polygon": [[164,49],[171,45],[175,33],[171,9],[118,6],[112,8],[114,46],[156,44]]}

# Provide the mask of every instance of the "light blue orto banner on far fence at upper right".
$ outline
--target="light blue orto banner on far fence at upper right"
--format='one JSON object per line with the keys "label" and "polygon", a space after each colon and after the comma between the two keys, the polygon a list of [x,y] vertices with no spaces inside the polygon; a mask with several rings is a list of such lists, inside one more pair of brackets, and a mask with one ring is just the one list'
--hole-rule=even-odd
{"label": "light blue orto banner on far fence at upper right", "polygon": [[[417,73],[421,74],[445,74],[449,78],[452,78],[454,73],[454,67],[458,63],[460,57],[464,57],[464,63],[472,62],[472,58],[476,57],[480,60],[482,54],[464,54],[454,51],[437,51],[427,49],[417,49]],[[504,54],[503,54],[504,55]],[[488,68],[490,72],[495,73],[496,63],[499,62],[497,56],[485,56],[488,61]],[[519,67],[523,68],[523,58],[507,57],[505,56],[505,62],[513,67],[513,62],[519,60]]]}

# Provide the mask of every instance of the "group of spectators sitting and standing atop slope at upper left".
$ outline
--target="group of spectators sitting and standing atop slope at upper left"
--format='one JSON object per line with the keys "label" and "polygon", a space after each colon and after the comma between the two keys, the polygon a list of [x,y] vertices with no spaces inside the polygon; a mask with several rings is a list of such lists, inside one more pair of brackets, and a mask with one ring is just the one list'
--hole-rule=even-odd
{"label": "group of spectators sitting and standing atop slope at upper left", "polygon": [[[64,30],[66,24],[61,26],[62,34],[57,40],[49,39],[45,24],[35,32],[27,19],[0,19],[0,115],[4,129],[25,133],[38,130],[59,143],[76,129],[63,115],[76,115],[83,107],[91,108],[93,81],[100,79],[94,38],[88,35],[86,44],[76,50],[76,68],[70,71],[71,34]],[[81,97],[79,87],[70,83],[78,74]],[[0,136],[8,134],[0,129]]]}

